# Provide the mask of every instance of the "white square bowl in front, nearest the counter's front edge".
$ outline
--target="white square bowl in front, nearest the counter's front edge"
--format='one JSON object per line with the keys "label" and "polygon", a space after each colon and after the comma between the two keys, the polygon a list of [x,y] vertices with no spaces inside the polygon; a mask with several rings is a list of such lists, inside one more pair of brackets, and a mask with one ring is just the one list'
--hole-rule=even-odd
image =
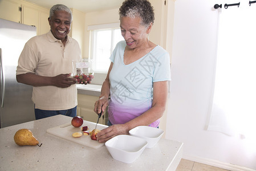
{"label": "white square bowl in front, nearest the counter's front edge", "polygon": [[115,160],[131,164],[140,156],[147,144],[147,141],[139,137],[118,135],[108,140],[105,146]]}

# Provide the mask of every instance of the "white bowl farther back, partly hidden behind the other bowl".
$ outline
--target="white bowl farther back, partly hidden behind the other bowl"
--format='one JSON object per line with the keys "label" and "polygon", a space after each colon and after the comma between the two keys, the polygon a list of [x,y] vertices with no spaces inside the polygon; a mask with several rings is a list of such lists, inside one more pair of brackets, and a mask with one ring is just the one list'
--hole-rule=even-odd
{"label": "white bowl farther back, partly hidden behind the other bowl", "polygon": [[139,126],[129,131],[131,136],[143,138],[148,142],[147,148],[152,148],[160,140],[164,131],[159,128],[153,128],[148,126]]}

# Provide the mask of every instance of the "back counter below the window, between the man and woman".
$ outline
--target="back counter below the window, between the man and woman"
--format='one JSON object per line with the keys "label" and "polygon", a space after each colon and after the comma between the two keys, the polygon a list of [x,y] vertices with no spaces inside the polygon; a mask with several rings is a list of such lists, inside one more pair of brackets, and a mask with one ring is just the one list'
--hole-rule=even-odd
{"label": "back counter below the window, between the man and woman", "polygon": [[101,85],[97,84],[76,84],[78,93],[82,95],[100,96]]}

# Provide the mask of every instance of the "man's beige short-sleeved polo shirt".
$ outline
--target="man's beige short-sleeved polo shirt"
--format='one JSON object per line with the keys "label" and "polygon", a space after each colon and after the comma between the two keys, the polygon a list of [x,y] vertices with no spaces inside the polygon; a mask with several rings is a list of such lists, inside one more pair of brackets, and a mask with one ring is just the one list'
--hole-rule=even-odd
{"label": "man's beige short-sleeved polo shirt", "polygon": [[[67,37],[66,45],[56,39],[51,31],[35,36],[26,44],[19,56],[16,74],[27,72],[40,76],[56,76],[72,72],[72,60],[80,60],[81,51],[75,39]],[[68,88],[54,86],[33,87],[32,101],[42,110],[65,110],[77,104],[76,85]]]}

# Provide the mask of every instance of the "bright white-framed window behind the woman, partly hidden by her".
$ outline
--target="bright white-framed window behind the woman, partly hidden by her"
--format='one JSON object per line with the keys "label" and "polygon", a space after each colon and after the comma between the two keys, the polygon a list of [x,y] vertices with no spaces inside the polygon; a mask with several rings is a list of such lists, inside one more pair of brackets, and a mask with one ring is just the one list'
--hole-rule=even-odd
{"label": "bright white-framed window behind the woman, partly hidden by her", "polygon": [[97,25],[91,28],[91,59],[94,61],[94,72],[107,73],[109,57],[120,40],[121,35],[119,23],[115,25]]}

